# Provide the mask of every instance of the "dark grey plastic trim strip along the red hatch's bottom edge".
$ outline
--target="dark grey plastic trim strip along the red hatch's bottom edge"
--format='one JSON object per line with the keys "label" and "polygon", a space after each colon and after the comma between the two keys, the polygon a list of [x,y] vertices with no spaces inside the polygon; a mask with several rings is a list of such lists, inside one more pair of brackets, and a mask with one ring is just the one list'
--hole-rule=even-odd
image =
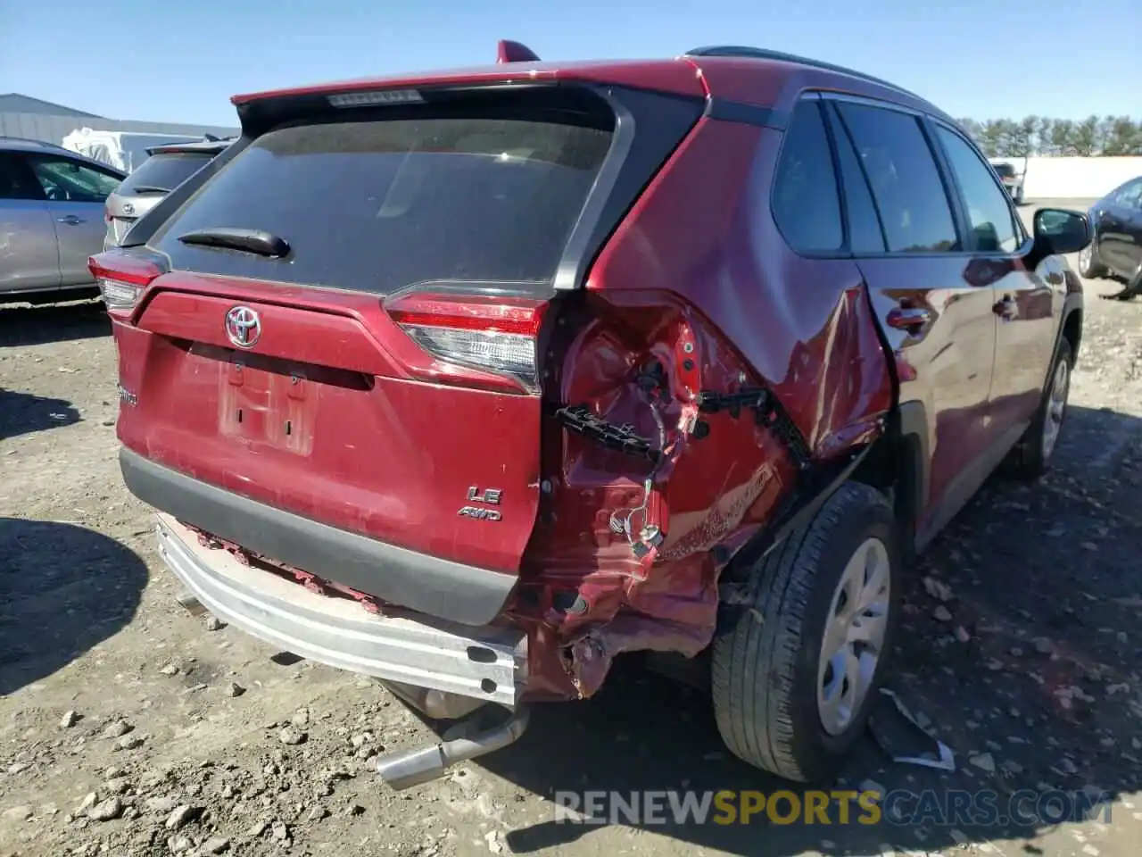
{"label": "dark grey plastic trim strip along the red hatch's bottom edge", "polygon": [[160,512],[252,553],[351,586],[381,601],[463,625],[488,625],[514,575],[378,542],[200,482],[123,447],[127,488]]}

